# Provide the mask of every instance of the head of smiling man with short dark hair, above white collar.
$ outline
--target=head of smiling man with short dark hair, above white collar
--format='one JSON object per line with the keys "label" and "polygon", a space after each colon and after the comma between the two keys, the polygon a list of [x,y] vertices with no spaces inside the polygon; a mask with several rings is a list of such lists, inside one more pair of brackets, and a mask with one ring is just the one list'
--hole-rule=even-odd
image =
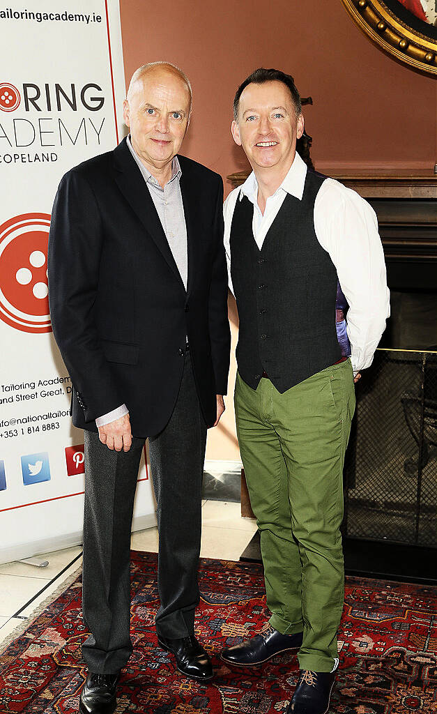
{"label": "head of smiling man with short dark hair, above white collar", "polygon": [[303,116],[296,117],[288,87],[280,81],[248,84],[243,90],[233,140],[243,146],[253,171],[271,169],[285,176],[293,164]]}

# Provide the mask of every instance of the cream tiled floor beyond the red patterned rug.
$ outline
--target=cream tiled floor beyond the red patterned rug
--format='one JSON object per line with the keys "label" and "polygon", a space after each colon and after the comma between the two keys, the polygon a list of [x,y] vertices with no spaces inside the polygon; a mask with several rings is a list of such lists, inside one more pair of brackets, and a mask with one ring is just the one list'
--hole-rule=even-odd
{"label": "cream tiled floor beyond the red patterned rug", "polygon": [[[203,501],[202,558],[238,560],[256,531],[255,521],[241,518],[240,508],[239,503]],[[131,547],[156,552],[156,528],[133,533]],[[81,548],[46,553],[41,560],[49,560],[49,565],[46,568],[26,563],[0,565],[0,648],[2,641],[24,619],[31,618],[41,602],[79,567]]]}

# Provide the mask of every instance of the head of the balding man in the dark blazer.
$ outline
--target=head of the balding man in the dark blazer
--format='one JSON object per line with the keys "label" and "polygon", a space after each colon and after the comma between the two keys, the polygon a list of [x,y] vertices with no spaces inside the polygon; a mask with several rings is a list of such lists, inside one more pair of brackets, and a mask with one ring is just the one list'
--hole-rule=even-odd
{"label": "head of the balding man in the dark blazer", "polygon": [[169,66],[156,66],[136,80],[123,104],[136,154],[154,174],[169,169],[189,125],[190,94],[184,79]]}

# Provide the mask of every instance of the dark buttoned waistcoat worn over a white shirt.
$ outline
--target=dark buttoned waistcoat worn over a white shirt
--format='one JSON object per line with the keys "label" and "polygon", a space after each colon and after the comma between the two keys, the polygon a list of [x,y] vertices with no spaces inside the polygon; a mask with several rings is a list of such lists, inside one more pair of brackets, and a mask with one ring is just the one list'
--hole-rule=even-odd
{"label": "dark buttoned waistcoat worn over a white shirt", "polygon": [[287,194],[261,251],[252,233],[253,205],[237,198],[231,225],[236,357],[253,389],[266,371],[283,393],[341,357],[336,268],[314,230],[314,201],[325,178],[308,169],[302,200]]}

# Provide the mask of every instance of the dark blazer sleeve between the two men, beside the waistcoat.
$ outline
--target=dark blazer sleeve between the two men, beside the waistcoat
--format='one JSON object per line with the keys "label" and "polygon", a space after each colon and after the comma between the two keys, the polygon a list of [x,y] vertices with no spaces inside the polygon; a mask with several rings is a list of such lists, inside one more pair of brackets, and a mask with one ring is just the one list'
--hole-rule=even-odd
{"label": "dark blazer sleeve between the two men, beside the waistcoat", "polygon": [[216,381],[216,393],[228,390],[231,331],[228,321],[228,271],[223,246],[223,182],[218,178],[214,212],[215,256],[209,288],[209,338]]}

